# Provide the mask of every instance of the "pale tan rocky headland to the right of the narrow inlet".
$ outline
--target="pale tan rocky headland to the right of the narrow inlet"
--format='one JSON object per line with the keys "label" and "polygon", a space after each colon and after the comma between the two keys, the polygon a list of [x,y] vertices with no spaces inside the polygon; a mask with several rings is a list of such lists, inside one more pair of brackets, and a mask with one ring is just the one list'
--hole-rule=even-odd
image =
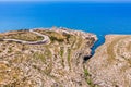
{"label": "pale tan rocky headland to the right of the narrow inlet", "polygon": [[85,69],[93,86],[131,87],[131,35],[107,35]]}

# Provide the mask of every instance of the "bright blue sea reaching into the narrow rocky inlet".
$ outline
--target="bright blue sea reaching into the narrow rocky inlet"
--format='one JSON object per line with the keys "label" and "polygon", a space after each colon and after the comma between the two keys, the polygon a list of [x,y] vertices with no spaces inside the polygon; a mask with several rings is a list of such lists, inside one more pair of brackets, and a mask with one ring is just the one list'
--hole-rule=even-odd
{"label": "bright blue sea reaching into the narrow rocky inlet", "polygon": [[62,26],[94,33],[131,35],[131,3],[0,2],[0,32]]}

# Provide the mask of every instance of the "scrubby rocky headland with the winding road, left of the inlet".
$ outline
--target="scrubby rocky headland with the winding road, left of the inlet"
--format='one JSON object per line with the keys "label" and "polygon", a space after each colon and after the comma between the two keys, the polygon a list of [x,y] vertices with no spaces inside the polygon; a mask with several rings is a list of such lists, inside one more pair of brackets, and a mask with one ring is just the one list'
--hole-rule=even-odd
{"label": "scrubby rocky headland with the winding road, left of the inlet", "polygon": [[87,87],[83,58],[91,55],[96,36],[64,28],[34,32],[0,34],[0,87]]}

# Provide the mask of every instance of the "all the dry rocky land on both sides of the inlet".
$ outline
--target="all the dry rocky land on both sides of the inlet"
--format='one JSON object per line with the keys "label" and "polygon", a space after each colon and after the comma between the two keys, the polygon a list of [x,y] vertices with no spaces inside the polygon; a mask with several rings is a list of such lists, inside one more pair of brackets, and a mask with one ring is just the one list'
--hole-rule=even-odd
{"label": "all the dry rocky land on both sides of the inlet", "polygon": [[107,35],[92,57],[96,41],[62,27],[2,33],[0,87],[130,87],[131,35]]}

